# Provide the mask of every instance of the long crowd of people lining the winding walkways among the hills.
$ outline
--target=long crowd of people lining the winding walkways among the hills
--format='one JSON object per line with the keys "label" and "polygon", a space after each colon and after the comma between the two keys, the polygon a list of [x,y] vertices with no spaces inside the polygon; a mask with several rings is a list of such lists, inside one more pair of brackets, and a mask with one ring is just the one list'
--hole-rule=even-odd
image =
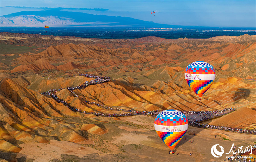
{"label": "long crowd of people lining the winding walkways among the hills", "polygon": [[[79,76],[84,76],[84,77],[88,77],[88,78],[95,78],[95,80],[85,81],[80,86],[67,87],[66,89],[68,89],[76,97],[78,97],[78,95],[73,91],[75,89],[83,89],[83,88],[85,88],[89,85],[92,85],[92,84],[100,84],[100,83],[111,81],[109,77],[96,76],[96,75],[92,75],[92,74],[79,74]],[[60,90],[62,90],[62,88],[60,88],[60,89],[49,89],[48,91],[43,92],[42,94],[51,95],[52,98],[54,98],[57,102],[64,104],[65,106],[67,106],[72,111],[85,113],[85,114],[94,114],[94,115],[97,115],[97,116],[120,117],[120,116],[133,116],[133,115],[147,115],[147,116],[156,117],[161,112],[159,110],[153,110],[153,111],[126,110],[126,109],[121,109],[121,108],[112,108],[112,107],[106,106],[104,104],[99,104],[99,103],[96,103],[96,102],[84,101],[87,104],[95,104],[98,107],[101,107],[101,108],[104,108],[104,109],[107,109],[107,110],[123,111],[123,112],[126,112],[126,113],[106,114],[106,113],[102,113],[102,112],[86,112],[86,111],[82,111],[78,108],[71,107],[70,105],[67,104],[66,101],[63,101],[60,98],[58,98],[55,93],[57,91],[60,91]],[[183,113],[187,116],[188,121],[189,121],[189,125],[194,126],[194,127],[219,129],[219,130],[226,130],[226,131],[246,133],[246,134],[256,134],[256,130],[241,129],[241,128],[234,128],[234,127],[224,127],[224,126],[214,126],[214,125],[198,123],[200,121],[207,120],[207,119],[212,119],[214,117],[218,117],[218,116],[227,114],[227,113],[235,111],[235,110],[236,109],[226,108],[226,109],[215,110],[215,111],[200,111],[200,112],[196,112],[196,111],[186,112],[186,111],[183,111]]]}

